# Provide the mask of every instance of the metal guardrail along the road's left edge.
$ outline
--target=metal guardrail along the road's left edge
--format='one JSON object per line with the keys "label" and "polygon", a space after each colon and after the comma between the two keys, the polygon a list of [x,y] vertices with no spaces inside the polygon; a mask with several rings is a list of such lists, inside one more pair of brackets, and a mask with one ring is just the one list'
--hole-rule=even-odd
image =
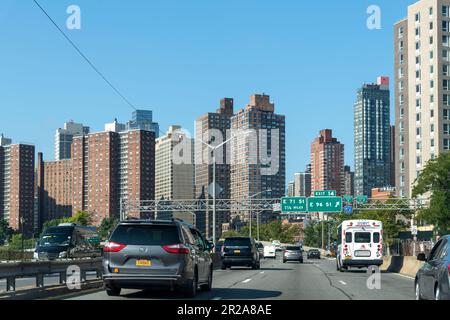
{"label": "metal guardrail along the road's left edge", "polygon": [[72,266],[79,268],[81,282],[86,281],[86,273],[89,271],[97,272],[97,278],[102,275],[102,258],[94,258],[0,264],[0,280],[6,279],[6,291],[15,291],[16,279],[26,277],[35,277],[36,287],[42,288],[45,276],[50,274],[59,274],[59,283],[64,284],[67,281],[67,270]]}

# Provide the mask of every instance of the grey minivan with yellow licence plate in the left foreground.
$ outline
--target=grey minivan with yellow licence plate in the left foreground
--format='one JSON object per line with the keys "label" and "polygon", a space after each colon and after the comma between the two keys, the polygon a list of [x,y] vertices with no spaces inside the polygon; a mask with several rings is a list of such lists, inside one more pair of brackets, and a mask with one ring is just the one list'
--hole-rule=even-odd
{"label": "grey minivan with yellow licence plate in the left foreground", "polygon": [[193,226],[179,220],[121,222],[104,247],[106,293],[122,288],[180,288],[194,297],[201,286],[211,290],[212,245]]}

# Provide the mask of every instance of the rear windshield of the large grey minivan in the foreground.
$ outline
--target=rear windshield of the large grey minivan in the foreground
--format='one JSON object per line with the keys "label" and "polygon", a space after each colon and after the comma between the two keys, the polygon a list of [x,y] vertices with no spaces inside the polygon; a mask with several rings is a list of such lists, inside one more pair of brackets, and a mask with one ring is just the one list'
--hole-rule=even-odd
{"label": "rear windshield of the large grey minivan in the foreground", "polygon": [[176,226],[121,225],[110,241],[135,246],[165,246],[180,243]]}

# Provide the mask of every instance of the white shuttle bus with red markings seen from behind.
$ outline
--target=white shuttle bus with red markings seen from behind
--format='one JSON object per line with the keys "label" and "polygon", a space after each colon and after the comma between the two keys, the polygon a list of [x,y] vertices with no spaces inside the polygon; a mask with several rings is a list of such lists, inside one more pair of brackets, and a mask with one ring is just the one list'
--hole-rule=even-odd
{"label": "white shuttle bus with red markings seen from behind", "polygon": [[377,220],[348,220],[338,227],[336,268],[381,266],[383,225]]}

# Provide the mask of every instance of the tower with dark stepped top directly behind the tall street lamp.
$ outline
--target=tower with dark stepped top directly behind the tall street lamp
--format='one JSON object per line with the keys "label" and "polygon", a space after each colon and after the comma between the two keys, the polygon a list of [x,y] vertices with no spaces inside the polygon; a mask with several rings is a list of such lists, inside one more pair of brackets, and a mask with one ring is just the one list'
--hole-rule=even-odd
{"label": "tower with dark stepped top directly behind the tall street lamp", "polygon": [[[230,137],[231,117],[234,101],[223,98],[216,112],[210,112],[197,118],[195,122],[195,196],[196,198],[212,199],[213,162],[210,145],[218,145]],[[216,197],[230,199],[230,144],[218,148],[216,156]],[[221,234],[221,226],[230,220],[230,212],[216,213],[216,235]],[[212,235],[212,212],[206,210],[204,216],[197,217],[197,227],[204,226],[201,231],[207,236]]]}

